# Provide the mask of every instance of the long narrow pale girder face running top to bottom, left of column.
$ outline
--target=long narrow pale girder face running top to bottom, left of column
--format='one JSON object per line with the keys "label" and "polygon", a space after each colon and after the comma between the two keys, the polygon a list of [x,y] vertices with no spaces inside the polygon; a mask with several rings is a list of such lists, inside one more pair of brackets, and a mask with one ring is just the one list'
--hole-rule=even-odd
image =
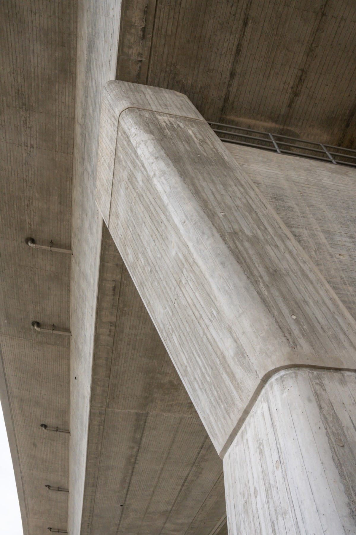
{"label": "long narrow pale girder face running top to bottom, left of column", "polygon": [[70,303],[68,531],[82,529],[102,220],[93,202],[101,86],[115,72],[120,1],[78,2]]}

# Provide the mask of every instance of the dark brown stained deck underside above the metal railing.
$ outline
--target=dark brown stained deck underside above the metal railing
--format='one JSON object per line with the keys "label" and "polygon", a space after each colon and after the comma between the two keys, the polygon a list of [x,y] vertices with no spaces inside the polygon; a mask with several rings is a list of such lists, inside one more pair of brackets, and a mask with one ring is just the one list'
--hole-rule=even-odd
{"label": "dark brown stained deck underside above the metal railing", "polygon": [[353,0],[124,0],[116,79],[206,120],[356,148]]}

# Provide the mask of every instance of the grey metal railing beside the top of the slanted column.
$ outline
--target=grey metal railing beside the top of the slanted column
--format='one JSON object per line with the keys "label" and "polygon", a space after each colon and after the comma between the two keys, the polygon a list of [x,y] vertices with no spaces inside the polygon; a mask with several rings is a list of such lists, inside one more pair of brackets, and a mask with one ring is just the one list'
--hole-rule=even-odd
{"label": "grey metal railing beside the top of the slanted column", "polygon": [[278,154],[301,156],[329,162],[332,164],[351,165],[356,167],[356,150],[344,147],[335,147],[327,143],[306,141],[297,137],[289,137],[270,132],[260,132],[240,126],[224,125],[208,121],[213,131],[221,141],[272,150]]}

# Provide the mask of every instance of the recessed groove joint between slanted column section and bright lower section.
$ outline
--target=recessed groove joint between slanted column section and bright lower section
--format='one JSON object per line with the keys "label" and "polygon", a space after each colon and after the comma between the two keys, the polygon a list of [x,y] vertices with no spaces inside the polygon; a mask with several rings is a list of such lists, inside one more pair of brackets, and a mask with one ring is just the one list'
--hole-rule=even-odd
{"label": "recessed groove joint between slanted column section and bright lower section", "polygon": [[252,394],[250,401],[248,402],[246,408],[242,412],[242,415],[238,419],[238,422],[236,423],[234,429],[228,436],[228,439],[226,440],[223,448],[221,448],[219,452],[219,457],[221,459],[224,458],[228,448],[232,445],[233,441],[239,434],[242,425],[248,418],[251,410],[254,408],[256,402],[258,401],[260,395],[262,394],[265,387],[271,383],[273,380],[275,380],[280,375],[287,375],[288,373],[292,373],[297,370],[310,370],[310,371],[326,371],[326,372],[351,372],[356,374],[356,369],[354,368],[336,368],[335,366],[317,366],[317,365],[308,365],[308,364],[288,364],[286,366],[279,366],[278,368],[274,368],[273,370],[268,371],[265,373],[265,375],[262,377],[262,379],[259,381],[259,384],[255,390],[255,392]]}

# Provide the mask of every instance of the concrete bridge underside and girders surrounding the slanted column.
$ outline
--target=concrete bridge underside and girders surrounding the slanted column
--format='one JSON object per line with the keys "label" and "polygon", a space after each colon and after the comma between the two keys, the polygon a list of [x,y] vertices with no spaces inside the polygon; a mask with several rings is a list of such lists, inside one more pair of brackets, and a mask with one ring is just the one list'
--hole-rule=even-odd
{"label": "concrete bridge underside and girders surrounding the slanted column", "polygon": [[[240,4],[2,3],[0,394],[25,535],[227,533],[223,463],[94,188],[115,77],[183,91],[207,120],[353,146],[354,4]],[[229,149],[356,318],[354,170]]]}

